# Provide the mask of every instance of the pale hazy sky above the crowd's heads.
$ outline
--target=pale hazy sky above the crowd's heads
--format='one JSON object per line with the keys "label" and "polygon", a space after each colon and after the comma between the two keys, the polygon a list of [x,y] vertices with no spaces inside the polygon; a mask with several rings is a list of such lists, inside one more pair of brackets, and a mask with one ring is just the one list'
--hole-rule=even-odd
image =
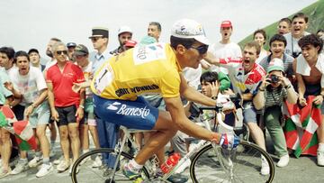
{"label": "pale hazy sky above the crowd's heads", "polygon": [[162,25],[160,41],[169,41],[173,23],[190,18],[202,23],[211,42],[220,41],[220,23],[233,24],[232,41],[300,11],[316,0],[2,0],[0,1],[0,46],[14,50],[36,48],[45,55],[50,38],[85,44],[91,29],[109,29],[108,50],[118,47],[117,32],[130,26],[133,40],[147,34],[149,22]]}

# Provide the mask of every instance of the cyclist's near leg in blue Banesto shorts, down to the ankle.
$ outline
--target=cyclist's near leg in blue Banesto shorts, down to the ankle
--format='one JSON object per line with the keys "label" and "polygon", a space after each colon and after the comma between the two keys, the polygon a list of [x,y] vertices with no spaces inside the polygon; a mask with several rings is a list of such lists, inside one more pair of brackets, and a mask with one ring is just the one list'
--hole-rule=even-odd
{"label": "cyclist's near leg in blue Banesto shorts, down to the ankle", "polygon": [[154,153],[162,151],[177,131],[169,113],[158,111],[157,108],[148,105],[142,97],[136,101],[123,101],[94,96],[94,107],[100,118],[113,124],[133,129],[157,130],[135,158],[139,165],[143,165]]}

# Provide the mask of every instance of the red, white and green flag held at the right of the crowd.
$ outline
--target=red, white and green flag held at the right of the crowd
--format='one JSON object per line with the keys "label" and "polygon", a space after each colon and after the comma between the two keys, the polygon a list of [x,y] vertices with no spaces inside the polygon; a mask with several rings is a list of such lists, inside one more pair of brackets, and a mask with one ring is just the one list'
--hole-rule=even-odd
{"label": "red, white and green flag held at the right of the crowd", "polygon": [[287,147],[294,150],[293,154],[298,158],[302,154],[317,155],[318,136],[316,130],[321,123],[320,105],[312,104],[315,96],[307,98],[307,104],[303,108],[285,102],[284,136]]}

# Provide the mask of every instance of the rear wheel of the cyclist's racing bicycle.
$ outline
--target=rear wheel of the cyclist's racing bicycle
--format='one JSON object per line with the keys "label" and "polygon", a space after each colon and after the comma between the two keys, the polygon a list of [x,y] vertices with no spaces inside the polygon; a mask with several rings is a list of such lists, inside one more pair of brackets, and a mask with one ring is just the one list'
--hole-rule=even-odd
{"label": "rear wheel of the cyclist's racing bicycle", "polygon": [[[117,156],[117,152],[113,149],[108,148],[100,148],[93,151],[88,151],[85,154],[81,155],[76,162],[73,164],[73,167],[71,169],[71,178],[73,183],[82,183],[82,182],[105,182],[106,180],[110,179],[110,176],[103,176],[103,170],[100,169],[94,169],[92,168],[92,162],[85,161],[88,160],[88,158],[92,158],[96,155],[102,154],[102,153],[109,153]],[[121,159],[120,159],[120,167],[123,163],[121,163],[121,160],[131,160],[133,159],[133,156],[131,156],[129,153],[122,151],[121,152]],[[92,161],[92,160],[91,160]],[[143,167],[142,169],[142,177],[148,178],[148,170]],[[116,171],[114,182],[119,181],[127,181],[128,178],[124,177],[122,175],[121,169]]]}

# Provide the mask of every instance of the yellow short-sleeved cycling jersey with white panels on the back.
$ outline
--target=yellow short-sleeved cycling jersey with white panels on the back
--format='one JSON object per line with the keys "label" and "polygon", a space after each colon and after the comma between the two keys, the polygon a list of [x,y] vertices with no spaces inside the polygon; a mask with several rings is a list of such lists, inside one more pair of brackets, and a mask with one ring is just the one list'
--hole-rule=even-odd
{"label": "yellow short-sleeved cycling jersey with white panels on the back", "polygon": [[94,74],[91,89],[107,99],[136,100],[142,93],[179,96],[181,68],[166,43],[138,46],[112,57]]}

